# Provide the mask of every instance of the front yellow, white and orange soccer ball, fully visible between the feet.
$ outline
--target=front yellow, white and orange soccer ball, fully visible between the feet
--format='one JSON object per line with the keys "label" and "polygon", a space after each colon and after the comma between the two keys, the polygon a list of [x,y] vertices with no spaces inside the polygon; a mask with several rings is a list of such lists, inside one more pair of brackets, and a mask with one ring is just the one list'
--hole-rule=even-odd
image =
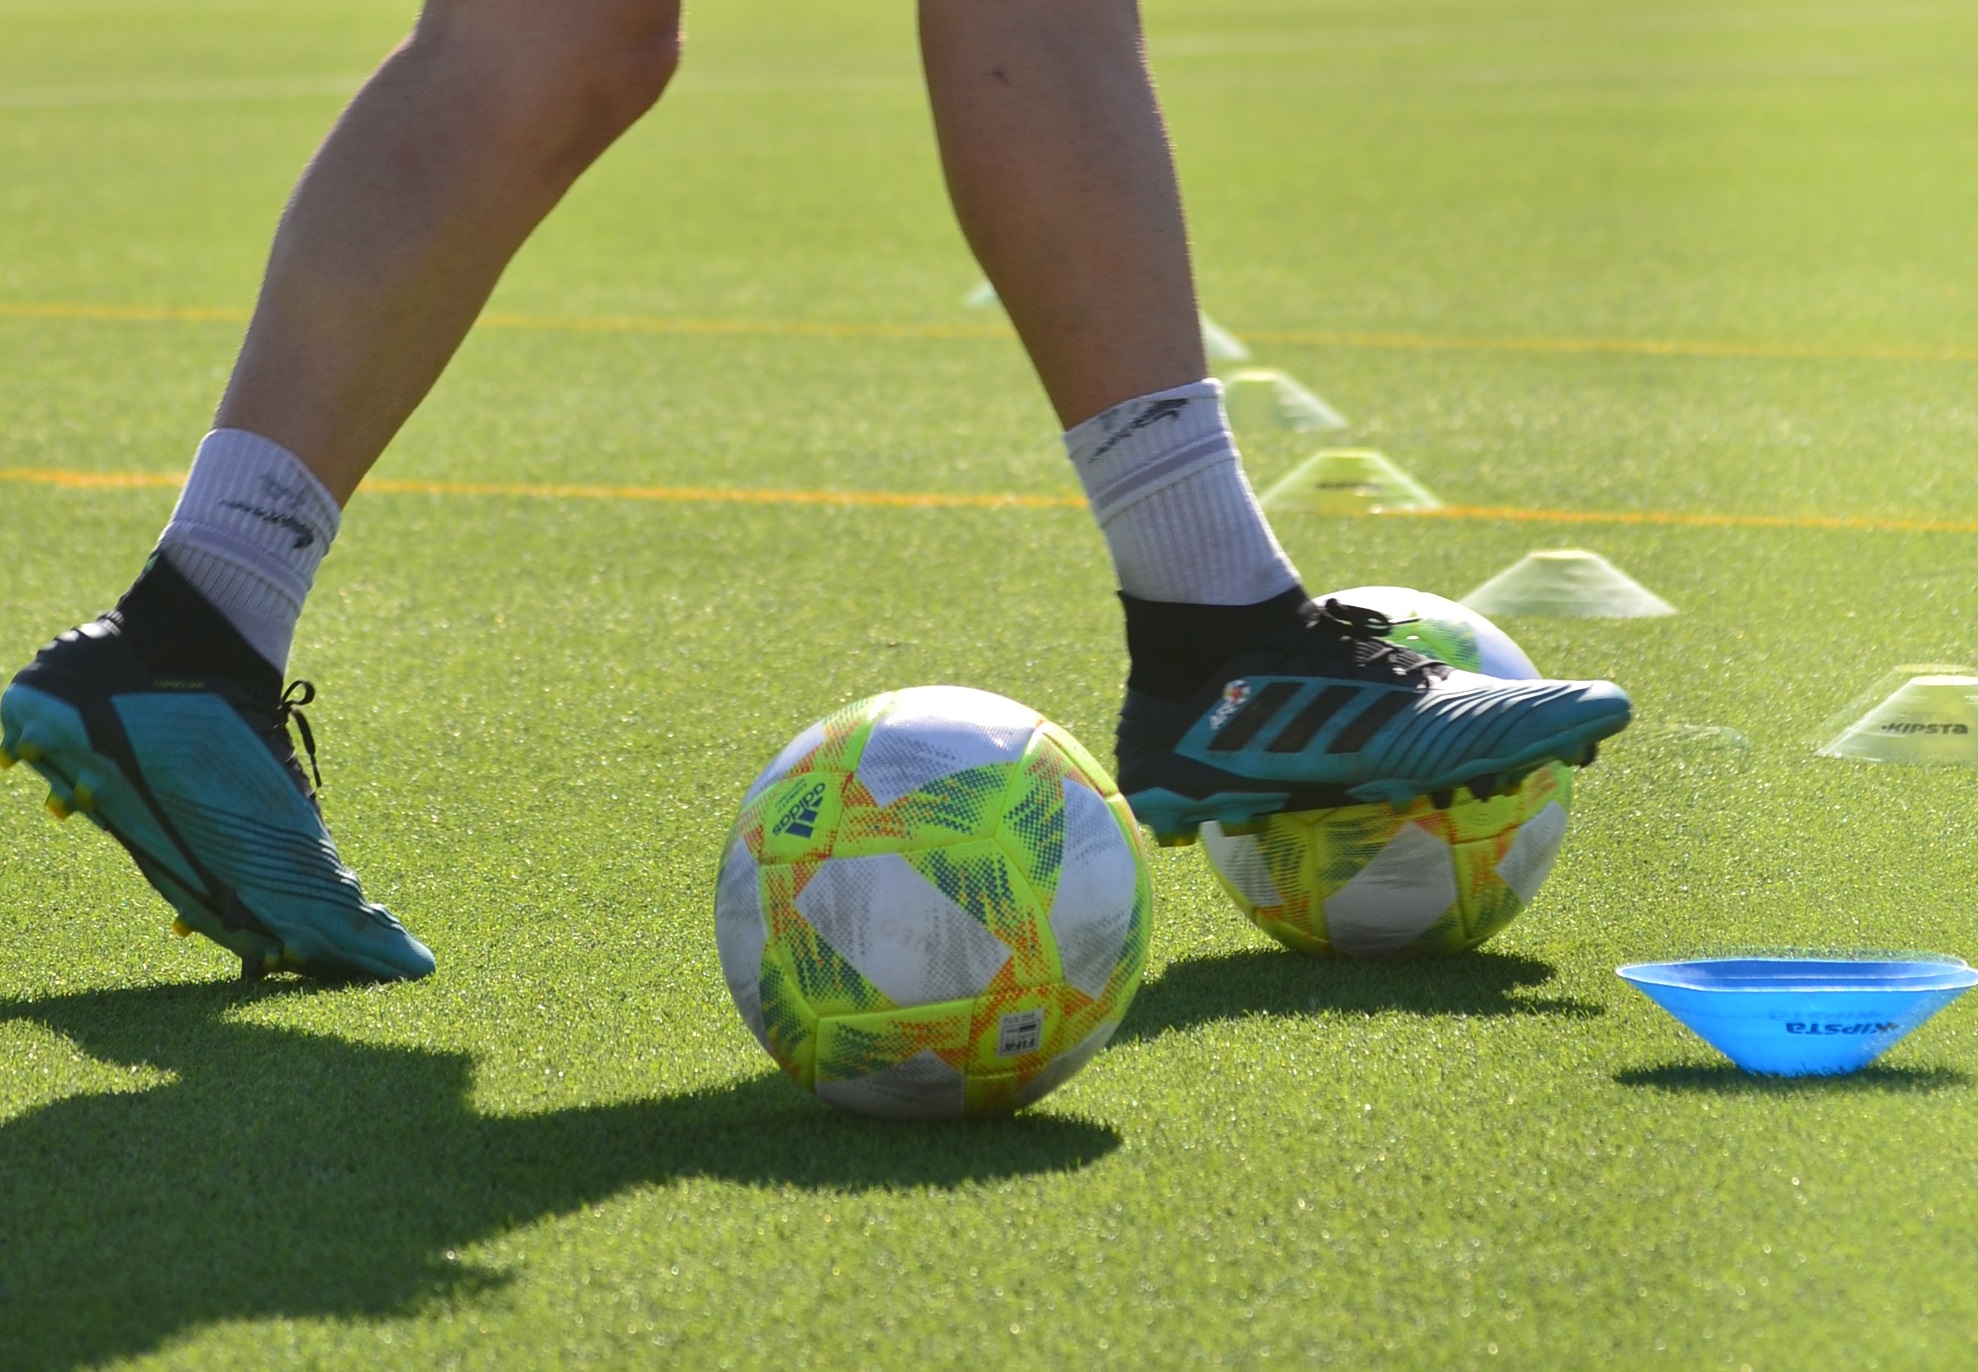
{"label": "front yellow, white and orange soccer ball, fully visible between the feet", "polygon": [[1106,1046],[1151,913],[1133,813],[1070,733],[918,686],[845,706],[756,777],[714,933],[791,1081],[953,1119],[1029,1105]]}

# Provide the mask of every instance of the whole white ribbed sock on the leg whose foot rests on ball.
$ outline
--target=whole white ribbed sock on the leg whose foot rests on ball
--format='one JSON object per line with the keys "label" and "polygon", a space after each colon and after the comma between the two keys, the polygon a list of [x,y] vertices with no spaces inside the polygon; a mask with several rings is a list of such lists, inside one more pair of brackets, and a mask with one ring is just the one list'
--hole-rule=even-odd
{"label": "whole white ribbed sock on the leg whose foot rests on ball", "polygon": [[1222,382],[1114,405],[1064,449],[1127,595],[1256,605],[1298,585],[1236,457]]}

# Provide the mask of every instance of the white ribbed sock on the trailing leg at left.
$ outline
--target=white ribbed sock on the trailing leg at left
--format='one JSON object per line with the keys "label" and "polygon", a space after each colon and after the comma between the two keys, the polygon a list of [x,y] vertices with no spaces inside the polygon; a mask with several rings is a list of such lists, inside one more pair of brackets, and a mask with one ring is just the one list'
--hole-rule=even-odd
{"label": "white ribbed sock on the trailing leg at left", "polygon": [[158,552],[255,652],[287,670],[295,621],[340,524],[336,498],[303,459],[259,433],[214,429]]}

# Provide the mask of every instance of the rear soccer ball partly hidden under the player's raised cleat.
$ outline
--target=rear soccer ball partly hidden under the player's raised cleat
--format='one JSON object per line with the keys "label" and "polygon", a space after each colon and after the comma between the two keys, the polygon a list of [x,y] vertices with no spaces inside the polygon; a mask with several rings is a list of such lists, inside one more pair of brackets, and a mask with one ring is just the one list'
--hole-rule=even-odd
{"label": "rear soccer ball partly hidden under the player's raised cleat", "polygon": [[[1511,637],[1440,595],[1377,585],[1337,591],[1387,615],[1391,641],[1489,676],[1537,676]],[[1448,799],[1448,797],[1444,797]],[[1458,787],[1438,809],[1349,805],[1272,815],[1230,832],[1203,824],[1209,862],[1258,929],[1300,953],[1460,953],[1503,929],[1539,892],[1573,805],[1573,769],[1539,767],[1489,801]]]}

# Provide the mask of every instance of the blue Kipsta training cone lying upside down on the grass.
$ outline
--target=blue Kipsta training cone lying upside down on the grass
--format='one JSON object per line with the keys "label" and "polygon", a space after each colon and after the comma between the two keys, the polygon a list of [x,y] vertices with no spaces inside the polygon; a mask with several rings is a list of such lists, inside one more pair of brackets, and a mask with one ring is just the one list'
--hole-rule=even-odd
{"label": "blue Kipsta training cone lying upside down on the grass", "polygon": [[1616,967],[1745,1072],[1859,1072],[1978,985],[1960,959],[1699,957]]}

